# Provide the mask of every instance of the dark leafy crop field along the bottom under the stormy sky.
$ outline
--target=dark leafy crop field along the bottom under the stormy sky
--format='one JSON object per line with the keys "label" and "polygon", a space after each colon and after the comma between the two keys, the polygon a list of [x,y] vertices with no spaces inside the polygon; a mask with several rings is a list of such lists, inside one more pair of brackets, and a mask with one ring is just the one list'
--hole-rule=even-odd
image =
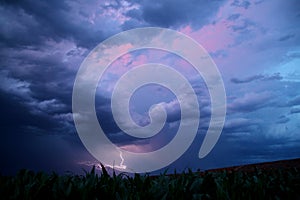
{"label": "dark leafy crop field along the bottom under the stormy sky", "polygon": [[253,168],[159,176],[95,168],[84,176],[34,173],[0,176],[0,199],[300,199],[299,168]]}

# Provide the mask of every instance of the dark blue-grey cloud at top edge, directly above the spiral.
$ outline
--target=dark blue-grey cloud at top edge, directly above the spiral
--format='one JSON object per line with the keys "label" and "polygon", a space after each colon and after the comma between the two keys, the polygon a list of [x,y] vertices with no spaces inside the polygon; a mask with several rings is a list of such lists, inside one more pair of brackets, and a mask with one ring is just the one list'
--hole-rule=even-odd
{"label": "dark blue-grey cloud at top edge, directly above the spiral", "polygon": [[199,28],[209,21],[224,1],[163,0],[153,2],[143,0],[131,2],[137,3],[140,8],[128,11],[127,15],[151,26],[178,27],[191,24]]}

